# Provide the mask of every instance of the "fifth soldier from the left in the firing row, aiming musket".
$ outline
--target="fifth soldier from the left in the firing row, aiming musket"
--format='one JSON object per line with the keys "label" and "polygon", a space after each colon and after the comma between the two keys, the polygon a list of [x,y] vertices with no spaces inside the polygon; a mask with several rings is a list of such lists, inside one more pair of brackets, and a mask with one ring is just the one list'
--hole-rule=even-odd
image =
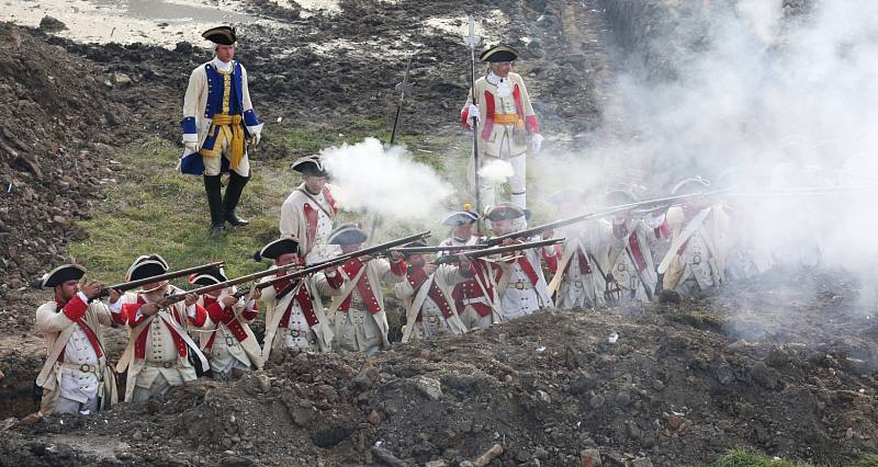
{"label": "fifth soldier from the left in the firing row, aiming musket", "polygon": [[[368,238],[356,225],[344,224],[329,236],[329,243],[340,246],[346,254],[361,250]],[[403,255],[392,252],[391,261],[352,258],[315,277],[318,289],[333,297],[329,317],[335,320],[336,345],[340,351],[373,355],[390,345],[381,283],[403,282],[405,271]]]}

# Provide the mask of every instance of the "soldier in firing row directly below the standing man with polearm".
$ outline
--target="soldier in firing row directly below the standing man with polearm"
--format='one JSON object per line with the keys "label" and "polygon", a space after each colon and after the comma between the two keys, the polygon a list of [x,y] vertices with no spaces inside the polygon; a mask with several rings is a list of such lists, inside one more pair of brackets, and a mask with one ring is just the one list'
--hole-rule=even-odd
{"label": "soldier in firing row directly below the standing man with polearm", "polygon": [[[491,207],[485,217],[495,236],[513,234],[516,226],[525,226],[525,210],[511,203]],[[515,244],[506,240],[506,244]],[[500,314],[504,321],[530,315],[538,309],[552,308],[548,284],[542,273],[542,257],[553,255],[554,246],[521,251],[517,258],[503,264],[497,289],[500,295]]]}

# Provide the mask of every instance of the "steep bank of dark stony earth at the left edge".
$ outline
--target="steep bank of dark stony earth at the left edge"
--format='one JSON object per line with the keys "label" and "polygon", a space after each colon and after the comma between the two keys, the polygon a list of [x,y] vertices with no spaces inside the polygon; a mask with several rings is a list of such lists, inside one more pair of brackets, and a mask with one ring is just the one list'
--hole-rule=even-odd
{"label": "steep bank of dark stony earth at the left edge", "polygon": [[14,309],[46,264],[69,260],[67,242],[85,235],[74,220],[117,178],[112,133],[126,110],[101,70],[40,33],[0,24],[0,300]]}

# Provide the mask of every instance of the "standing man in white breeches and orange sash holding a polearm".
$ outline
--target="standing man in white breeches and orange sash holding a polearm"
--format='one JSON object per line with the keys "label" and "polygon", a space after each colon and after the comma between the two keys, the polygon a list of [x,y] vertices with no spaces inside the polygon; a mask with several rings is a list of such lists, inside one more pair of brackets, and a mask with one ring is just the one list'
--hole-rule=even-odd
{"label": "standing man in white breeches and orange sash holding a polearm", "polygon": [[[530,104],[528,90],[521,76],[511,71],[513,61],[519,57],[518,50],[508,45],[497,45],[479,57],[487,61],[491,70],[487,76],[475,81],[475,100],[470,92],[461,111],[461,122],[472,129],[472,118],[479,122],[479,160],[485,166],[497,159],[508,161],[514,174],[509,178],[510,201],[522,208],[527,207],[527,161],[526,155],[536,155],[542,146],[540,124]],[[472,91],[472,90],[471,90]],[[480,170],[481,167],[474,168]],[[494,184],[482,179],[476,187],[482,202],[494,204]]]}

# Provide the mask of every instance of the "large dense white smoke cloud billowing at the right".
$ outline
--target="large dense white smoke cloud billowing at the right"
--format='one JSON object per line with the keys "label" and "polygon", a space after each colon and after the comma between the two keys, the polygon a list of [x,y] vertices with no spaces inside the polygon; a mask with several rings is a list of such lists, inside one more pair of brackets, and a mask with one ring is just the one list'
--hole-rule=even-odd
{"label": "large dense white smoke cloud billowing at the right", "polygon": [[[595,198],[634,185],[641,197],[664,196],[694,175],[739,192],[878,186],[878,2],[815,1],[803,13],[781,0],[666,10],[640,47],[650,60],[607,89],[611,118],[587,146],[531,162],[542,194],[577,187]],[[656,62],[671,72],[657,78]],[[729,203],[763,267],[844,267],[875,300],[876,200],[863,191]]]}

